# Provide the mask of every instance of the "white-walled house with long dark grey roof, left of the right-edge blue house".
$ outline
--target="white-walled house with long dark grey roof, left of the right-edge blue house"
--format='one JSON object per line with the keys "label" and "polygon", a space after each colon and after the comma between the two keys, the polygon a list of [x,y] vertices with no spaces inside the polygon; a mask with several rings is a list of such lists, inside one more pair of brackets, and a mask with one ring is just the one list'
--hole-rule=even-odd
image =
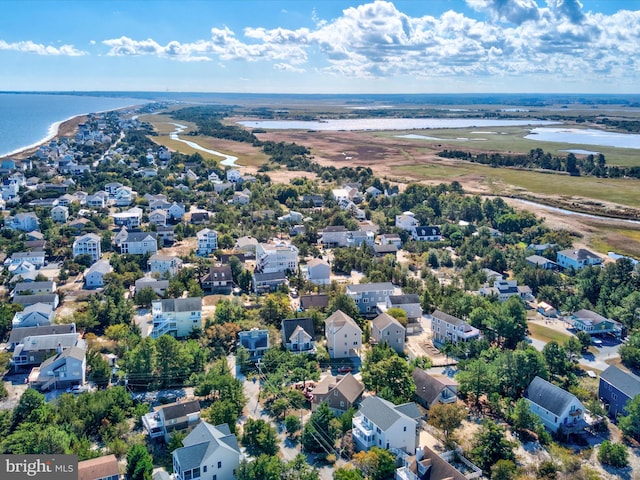
{"label": "white-walled house with long dark grey roof, left of the right-edge blue house", "polygon": [[552,432],[584,427],[584,405],[575,395],[540,377],[535,377],[524,391],[531,413],[540,417]]}

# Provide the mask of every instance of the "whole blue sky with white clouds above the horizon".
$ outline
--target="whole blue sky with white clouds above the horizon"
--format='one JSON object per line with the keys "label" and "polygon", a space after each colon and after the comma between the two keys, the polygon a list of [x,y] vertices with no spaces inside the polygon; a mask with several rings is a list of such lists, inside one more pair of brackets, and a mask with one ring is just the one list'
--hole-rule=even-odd
{"label": "whole blue sky with white clouds above the horizon", "polygon": [[640,0],[1,0],[0,90],[640,93]]}

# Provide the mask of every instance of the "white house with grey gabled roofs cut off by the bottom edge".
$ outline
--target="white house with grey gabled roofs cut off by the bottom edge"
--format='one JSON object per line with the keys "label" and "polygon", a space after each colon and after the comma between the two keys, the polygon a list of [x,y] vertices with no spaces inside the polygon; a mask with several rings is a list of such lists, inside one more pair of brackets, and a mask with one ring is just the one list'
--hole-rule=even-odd
{"label": "white house with grey gabled roofs cut off by the bottom edge", "polygon": [[242,453],[229,426],[200,422],[173,451],[174,480],[235,478]]}

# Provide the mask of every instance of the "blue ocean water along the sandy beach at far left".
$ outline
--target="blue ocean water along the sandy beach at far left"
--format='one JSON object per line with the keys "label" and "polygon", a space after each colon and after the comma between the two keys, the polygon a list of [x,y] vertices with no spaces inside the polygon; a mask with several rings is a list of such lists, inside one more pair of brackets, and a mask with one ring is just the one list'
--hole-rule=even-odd
{"label": "blue ocean water along the sandy beach at far left", "polygon": [[55,125],[71,117],[148,101],[122,96],[0,93],[0,156],[51,138]]}

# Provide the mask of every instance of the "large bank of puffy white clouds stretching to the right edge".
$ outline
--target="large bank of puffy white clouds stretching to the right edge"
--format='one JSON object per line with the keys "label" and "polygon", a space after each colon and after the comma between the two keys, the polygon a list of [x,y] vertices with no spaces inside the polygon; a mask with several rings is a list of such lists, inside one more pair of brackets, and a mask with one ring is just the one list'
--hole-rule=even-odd
{"label": "large bank of puffy white clouds stretching to the right edge", "polygon": [[152,39],[105,40],[109,55],[155,55],[181,61],[271,62],[300,72],[305,66],[338,76],[629,75],[640,68],[640,11],[585,12],[578,0],[466,0],[478,18],[447,11],[410,16],[375,0],[321,19],[314,27],[212,28],[192,43]]}

